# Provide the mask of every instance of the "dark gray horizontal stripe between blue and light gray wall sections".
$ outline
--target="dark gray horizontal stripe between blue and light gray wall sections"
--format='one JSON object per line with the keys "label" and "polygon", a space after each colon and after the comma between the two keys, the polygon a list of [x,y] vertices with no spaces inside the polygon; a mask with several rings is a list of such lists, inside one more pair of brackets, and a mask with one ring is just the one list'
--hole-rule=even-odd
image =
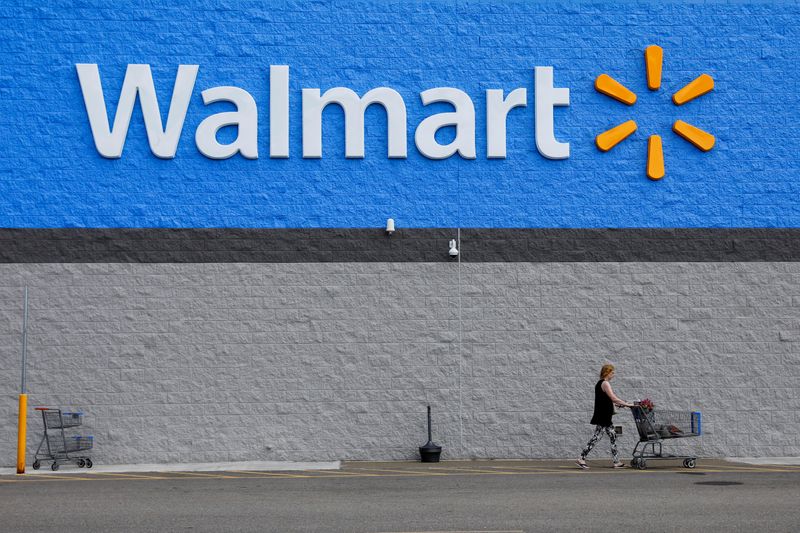
{"label": "dark gray horizontal stripe between blue and light gray wall sections", "polygon": [[[452,261],[455,228],[0,228],[0,263]],[[470,262],[800,261],[800,228],[462,229]]]}

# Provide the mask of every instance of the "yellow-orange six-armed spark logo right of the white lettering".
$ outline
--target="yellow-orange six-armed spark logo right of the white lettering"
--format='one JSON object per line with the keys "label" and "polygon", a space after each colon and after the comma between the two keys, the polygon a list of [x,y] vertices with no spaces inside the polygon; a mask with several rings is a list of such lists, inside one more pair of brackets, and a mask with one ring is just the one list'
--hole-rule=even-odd
{"label": "yellow-orange six-armed spark logo right of the white lettering", "polygon": [[[661,87],[661,64],[664,59],[664,50],[660,46],[648,46],[644,52],[644,59],[647,68],[647,88],[657,91]],[[608,74],[600,74],[594,82],[594,88],[597,92],[623,104],[633,105],[636,103],[636,94]],[[672,96],[672,102],[675,105],[683,105],[703,96],[713,88],[714,80],[711,76],[701,74],[676,92]],[[595,143],[601,151],[607,152],[630,137],[636,129],[636,122],[633,120],[623,122],[598,135]],[[708,152],[714,147],[713,135],[682,120],[675,121],[672,131],[704,152]],[[651,180],[660,180],[664,177],[664,151],[659,135],[651,135],[647,142],[647,177]]]}

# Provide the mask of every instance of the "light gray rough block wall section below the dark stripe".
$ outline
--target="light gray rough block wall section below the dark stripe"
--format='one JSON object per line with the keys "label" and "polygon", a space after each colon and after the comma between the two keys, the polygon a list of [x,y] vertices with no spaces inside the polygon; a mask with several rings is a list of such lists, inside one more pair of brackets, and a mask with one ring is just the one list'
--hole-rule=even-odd
{"label": "light gray rough block wall section below the dark stripe", "polygon": [[7,466],[26,284],[30,404],[98,463],[411,459],[427,403],[446,457],[573,456],[607,361],[703,455],[800,453],[798,263],[0,265]]}

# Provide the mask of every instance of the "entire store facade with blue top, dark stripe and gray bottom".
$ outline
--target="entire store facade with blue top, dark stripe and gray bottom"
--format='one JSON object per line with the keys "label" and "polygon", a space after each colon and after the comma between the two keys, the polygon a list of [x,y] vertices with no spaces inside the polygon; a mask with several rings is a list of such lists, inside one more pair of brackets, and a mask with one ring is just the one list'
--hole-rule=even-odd
{"label": "entire store facade with blue top, dark stripe and gray bottom", "polygon": [[796,5],[4,16],[3,463],[26,286],[98,462],[411,459],[427,405],[567,457],[606,362],[703,455],[800,452]]}

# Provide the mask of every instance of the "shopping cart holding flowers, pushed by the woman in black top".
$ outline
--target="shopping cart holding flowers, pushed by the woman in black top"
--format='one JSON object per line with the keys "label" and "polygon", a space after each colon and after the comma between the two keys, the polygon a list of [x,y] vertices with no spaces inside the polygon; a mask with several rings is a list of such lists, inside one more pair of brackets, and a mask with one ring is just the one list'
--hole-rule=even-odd
{"label": "shopping cart holding flowers, pushed by the woman in black top", "polygon": [[700,412],[664,409],[648,411],[638,404],[631,407],[631,412],[639,432],[639,442],[633,448],[631,466],[644,470],[647,468],[647,461],[651,459],[683,459],[683,466],[686,468],[697,465],[695,455],[664,454],[662,443],[670,439],[699,437],[702,430]]}

